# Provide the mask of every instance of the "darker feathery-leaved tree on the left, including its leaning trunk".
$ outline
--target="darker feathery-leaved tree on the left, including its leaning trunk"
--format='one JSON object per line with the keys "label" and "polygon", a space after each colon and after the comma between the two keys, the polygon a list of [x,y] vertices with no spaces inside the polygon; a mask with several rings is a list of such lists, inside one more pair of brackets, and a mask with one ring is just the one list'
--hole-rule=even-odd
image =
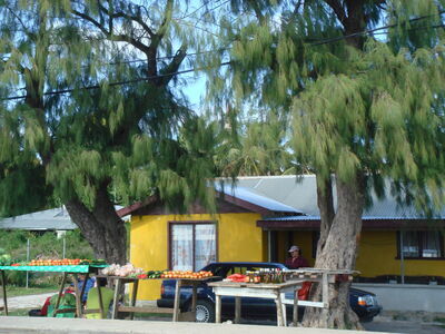
{"label": "darker feathery-leaved tree on the left, including its leaning trunk", "polygon": [[201,12],[172,0],[0,3],[6,210],[65,204],[95,255],[123,264],[116,202],[211,207],[216,127],[176,89],[188,50],[207,41]]}

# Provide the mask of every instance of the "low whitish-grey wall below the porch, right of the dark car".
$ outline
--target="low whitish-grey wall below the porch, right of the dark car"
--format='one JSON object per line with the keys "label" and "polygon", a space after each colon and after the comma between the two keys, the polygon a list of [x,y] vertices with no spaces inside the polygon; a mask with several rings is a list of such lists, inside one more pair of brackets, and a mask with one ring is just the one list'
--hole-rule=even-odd
{"label": "low whitish-grey wall below the porch, right of the dark car", "polygon": [[355,283],[353,287],[376,294],[384,311],[445,313],[445,285]]}

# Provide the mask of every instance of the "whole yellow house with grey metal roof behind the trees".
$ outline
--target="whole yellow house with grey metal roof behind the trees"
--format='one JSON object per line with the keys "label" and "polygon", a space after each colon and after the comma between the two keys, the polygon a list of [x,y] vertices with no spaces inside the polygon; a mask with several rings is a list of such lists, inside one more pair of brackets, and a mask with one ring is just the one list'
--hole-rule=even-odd
{"label": "whole yellow house with grey metal roof behind the trees", "polygon": [[[244,177],[218,197],[218,213],[185,215],[151,200],[131,214],[130,261],[145,269],[200,269],[210,262],[280,262],[298,245],[315,263],[319,214],[315,177]],[[445,284],[444,219],[425,220],[394,198],[374,198],[363,216],[358,282]],[[160,296],[160,282],[141,282],[138,299]]]}

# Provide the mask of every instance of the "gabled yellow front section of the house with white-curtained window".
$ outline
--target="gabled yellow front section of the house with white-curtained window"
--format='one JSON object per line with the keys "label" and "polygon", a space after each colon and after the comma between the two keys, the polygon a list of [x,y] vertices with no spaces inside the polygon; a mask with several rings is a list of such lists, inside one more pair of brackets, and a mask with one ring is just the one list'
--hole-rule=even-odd
{"label": "gabled yellow front section of the house with white-curtained window", "polygon": [[[145,269],[199,271],[210,262],[265,262],[267,233],[257,226],[263,217],[298,214],[294,208],[254,191],[231,190],[218,197],[218,213],[210,215],[195,205],[175,214],[160,203],[134,205],[130,262]],[[160,296],[160,282],[141,282],[138,299]]]}

